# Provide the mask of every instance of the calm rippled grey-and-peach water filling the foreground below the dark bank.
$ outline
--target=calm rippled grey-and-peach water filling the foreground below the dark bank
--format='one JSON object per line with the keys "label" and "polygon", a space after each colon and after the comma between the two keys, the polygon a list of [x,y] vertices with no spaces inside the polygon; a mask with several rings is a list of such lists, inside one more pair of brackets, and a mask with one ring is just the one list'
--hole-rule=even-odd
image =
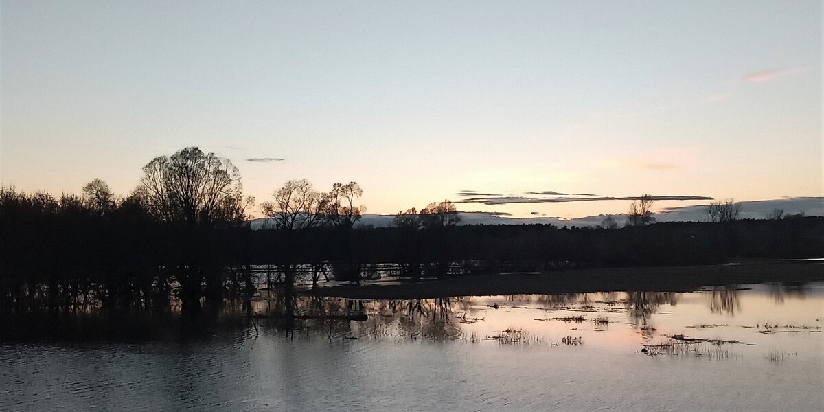
{"label": "calm rippled grey-and-peach water filling the foreground below the dark bank", "polygon": [[313,311],[368,320],[2,339],[0,410],[824,408],[824,283],[297,302]]}

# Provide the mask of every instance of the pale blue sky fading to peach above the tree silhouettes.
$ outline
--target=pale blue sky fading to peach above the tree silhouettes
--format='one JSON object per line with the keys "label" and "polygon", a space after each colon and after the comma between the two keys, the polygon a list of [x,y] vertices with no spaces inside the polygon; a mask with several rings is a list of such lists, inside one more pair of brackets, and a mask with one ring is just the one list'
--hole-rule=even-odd
{"label": "pale blue sky fading to peach above the tree silhouettes", "polygon": [[0,24],[18,190],[128,194],[199,146],[259,204],[353,180],[372,213],[824,195],[820,1],[3,0]]}

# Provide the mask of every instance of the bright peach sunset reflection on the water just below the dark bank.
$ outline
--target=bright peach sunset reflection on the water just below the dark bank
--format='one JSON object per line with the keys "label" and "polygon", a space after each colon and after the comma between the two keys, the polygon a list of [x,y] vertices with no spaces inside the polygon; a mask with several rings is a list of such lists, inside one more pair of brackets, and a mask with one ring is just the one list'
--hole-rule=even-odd
{"label": "bright peach sunset reflection on the water just below the dark bank", "polygon": [[[521,334],[520,344],[635,353],[644,345],[672,343],[673,335],[682,335],[740,341],[720,345],[723,353],[736,358],[792,353],[794,359],[820,360],[822,302],[824,283],[775,283],[693,293],[567,293],[413,301],[330,298],[299,303],[297,311],[370,316],[365,322],[305,324],[310,330],[324,330],[328,339],[456,340],[489,345],[508,342],[501,338],[513,335],[503,331],[515,330]],[[271,311],[270,302],[265,302],[266,307],[263,304],[257,302],[256,310]],[[699,342],[690,349],[709,350],[712,344]],[[566,346],[573,348],[564,349]]]}

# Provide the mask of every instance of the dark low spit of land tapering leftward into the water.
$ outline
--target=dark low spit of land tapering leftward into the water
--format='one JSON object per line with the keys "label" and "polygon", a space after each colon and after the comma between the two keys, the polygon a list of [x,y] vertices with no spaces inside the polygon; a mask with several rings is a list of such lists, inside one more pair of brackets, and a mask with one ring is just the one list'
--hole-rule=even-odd
{"label": "dark low spit of land tapering leftward into the water", "polygon": [[302,294],[351,299],[592,292],[691,292],[709,286],[824,280],[821,261],[769,261],[742,265],[566,269],[541,273],[482,274],[410,283],[355,284],[306,289]]}

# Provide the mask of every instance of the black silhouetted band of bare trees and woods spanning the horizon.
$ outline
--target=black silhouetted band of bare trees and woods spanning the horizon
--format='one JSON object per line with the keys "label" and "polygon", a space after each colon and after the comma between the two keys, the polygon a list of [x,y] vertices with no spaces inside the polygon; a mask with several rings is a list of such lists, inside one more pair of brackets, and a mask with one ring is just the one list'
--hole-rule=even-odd
{"label": "black silhouetted band of bare trees and woods spanning the horizon", "polygon": [[[460,226],[449,202],[398,213],[395,227],[358,227],[357,183],[328,193],[293,180],[261,207],[253,231],[236,170],[194,147],[144,167],[141,187],[115,199],[101,180],[82,195],[0,190],[0,311],[78,307],[192,314],[258,292],[255,268],[358,281],[390,266],[409,279],[509,270],[705,265],[733,258],[820,257],[824,218],[667,222],[623,228]],[[469,281],[469,280],[468,280]]]}

